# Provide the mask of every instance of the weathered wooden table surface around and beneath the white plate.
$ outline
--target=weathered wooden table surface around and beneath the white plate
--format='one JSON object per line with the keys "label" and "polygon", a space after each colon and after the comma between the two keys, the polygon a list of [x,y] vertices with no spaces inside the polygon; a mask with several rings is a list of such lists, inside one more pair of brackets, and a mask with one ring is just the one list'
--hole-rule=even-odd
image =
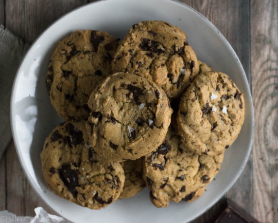
{"label": "weathered wooden table surface around and beneath the white plate", "polygon": [[[207,17],[239,56],[253,95],[253,151],[230,198],[262,223],[278,222],[278,0],[181,0]],[[0,24],[32,43],[55,19],[90,0],[0,0]],[[225,198],[194,222],[213,222]],[[54,212],[36,195],[13,142],[0,160],[0,210]]]}

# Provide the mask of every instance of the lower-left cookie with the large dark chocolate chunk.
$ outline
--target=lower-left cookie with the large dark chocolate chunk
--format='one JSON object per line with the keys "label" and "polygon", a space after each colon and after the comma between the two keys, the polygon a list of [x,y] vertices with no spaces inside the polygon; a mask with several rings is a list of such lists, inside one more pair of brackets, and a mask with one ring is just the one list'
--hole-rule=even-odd
{"label": "lower-left cookie with the large dark chocolate chunk", "polygon": [[[46,138],[41,152],[47,186],[76,204],[100,209],[117,200],[124,185],[120,163],[106,164],[86,142],[85,122],[65,122]],[[85,131],[86,132],[86,131]]]}

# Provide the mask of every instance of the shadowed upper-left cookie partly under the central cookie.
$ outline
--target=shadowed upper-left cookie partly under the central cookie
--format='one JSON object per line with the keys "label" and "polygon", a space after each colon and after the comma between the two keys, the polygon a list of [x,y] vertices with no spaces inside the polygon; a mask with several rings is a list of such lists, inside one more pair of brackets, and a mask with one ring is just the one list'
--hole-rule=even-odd
{"label": "shadowed upper-left cookie partly under the central cookie", "polygon": [[106,32],[76,31],[61,40],[48,65],[46,87],[51,103],[65,120],[87,119],[87,101],[94,88],[112,74],[118,47]]}

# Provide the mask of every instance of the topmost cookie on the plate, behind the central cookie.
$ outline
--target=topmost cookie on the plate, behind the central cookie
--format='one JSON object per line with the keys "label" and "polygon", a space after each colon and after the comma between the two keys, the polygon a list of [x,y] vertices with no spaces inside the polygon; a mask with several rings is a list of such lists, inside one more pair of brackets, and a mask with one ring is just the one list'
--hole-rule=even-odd
{"label": "topmost cookie on the plate, behind the central cookie", "polygon": [[139,74],[153,80],[169,98],[179,97],[199,73],[186,37],[180,28],[164,21],[139,22],[118,47],[113,72]]}

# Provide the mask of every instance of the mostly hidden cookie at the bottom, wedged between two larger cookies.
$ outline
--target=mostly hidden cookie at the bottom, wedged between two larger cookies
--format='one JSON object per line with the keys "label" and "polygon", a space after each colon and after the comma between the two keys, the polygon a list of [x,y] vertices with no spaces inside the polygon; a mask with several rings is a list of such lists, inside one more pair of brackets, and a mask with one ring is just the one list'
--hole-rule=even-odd
{"label": "mostly hidden cookie at the bottom, wedged between two larger cookies", "polygon": [[143,158],[138,160],[128,160],[123,163],[124,186],[119,198],[130,198],[145,188],[143,175]]}

